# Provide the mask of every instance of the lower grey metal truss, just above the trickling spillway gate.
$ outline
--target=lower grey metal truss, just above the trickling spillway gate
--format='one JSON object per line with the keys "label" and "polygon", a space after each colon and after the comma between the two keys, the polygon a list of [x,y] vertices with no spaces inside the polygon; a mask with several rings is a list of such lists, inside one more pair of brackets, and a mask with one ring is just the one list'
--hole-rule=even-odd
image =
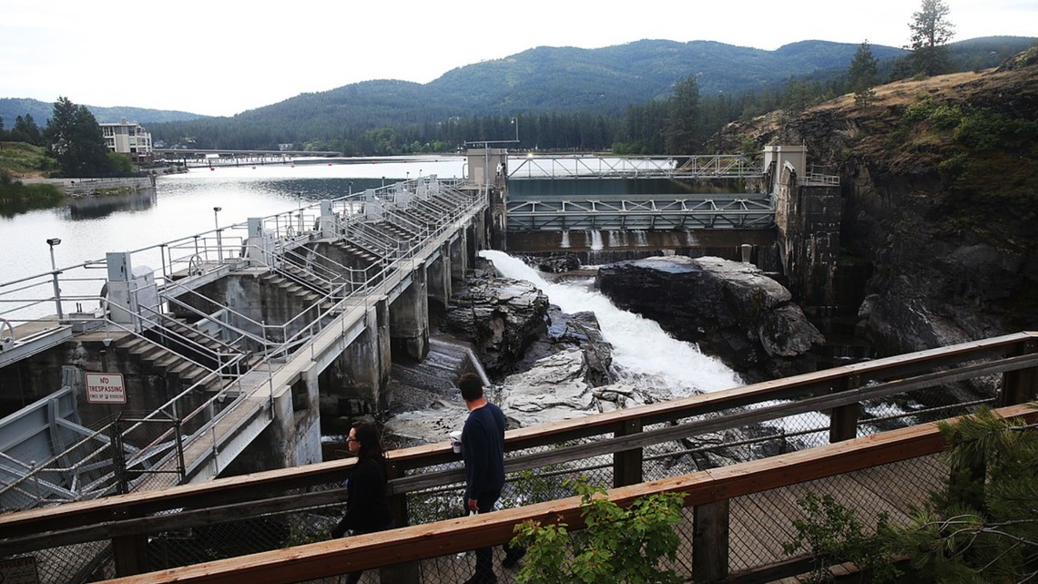
{"label": "lower grey metal truss, just above the trickling spillway gate", "polygon": [[774,227],[768,194],[653,201],[522,201],[508,206],[508,231],[719,230]]}

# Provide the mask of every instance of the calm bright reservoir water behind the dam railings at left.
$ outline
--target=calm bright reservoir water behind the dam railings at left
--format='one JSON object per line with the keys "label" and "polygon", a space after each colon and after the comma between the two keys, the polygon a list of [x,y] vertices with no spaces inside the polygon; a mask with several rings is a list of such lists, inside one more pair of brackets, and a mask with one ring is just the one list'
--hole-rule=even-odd
{"label": "calm bright reservoir water behind the dam railings at left", "polygon": [[0,217],[0,282],[48,272],[47,240],[57,266],[100,260],[109,251],[129,251],[215,228],[245,222],[335,198],[407,178],[437,175],[461,178],[464,157],[385,158],[353,162],[324,160],[295,165],[194,168],[160,177],[154,192],[88,198],[42,211]]}

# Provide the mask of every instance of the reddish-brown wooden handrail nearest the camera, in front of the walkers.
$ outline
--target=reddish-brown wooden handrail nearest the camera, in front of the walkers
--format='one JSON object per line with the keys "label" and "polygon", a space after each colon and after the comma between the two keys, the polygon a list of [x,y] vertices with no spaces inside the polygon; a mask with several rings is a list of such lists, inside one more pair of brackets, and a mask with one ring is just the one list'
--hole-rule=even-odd
{"label": "reddish-brown wooden handrail nearest the camera, in front of the walkers", "polygon": [[[1028,405],[1004,407],[995,413],[1005,418],[1022,417],[1030,423],[1038,421],[1038,409]],[[685,506],[704,505],[908,460],[947,448],[948,444],[936,424],[922,424],[770,458],[613,488],[607,492],[606,497],[626,506],[647,495],[680,493],[685,496]],[[570,529],[580,529],[583,527],[580,512],[580,498],[570,497],[105,582],[217,584],[248,581],[250,584],[284,584],[315,580],[462,552],[470,549],[473,541],[483,546],[504,543],[512,538],[514,526],[526,521],[543,524],[565,522]]]}

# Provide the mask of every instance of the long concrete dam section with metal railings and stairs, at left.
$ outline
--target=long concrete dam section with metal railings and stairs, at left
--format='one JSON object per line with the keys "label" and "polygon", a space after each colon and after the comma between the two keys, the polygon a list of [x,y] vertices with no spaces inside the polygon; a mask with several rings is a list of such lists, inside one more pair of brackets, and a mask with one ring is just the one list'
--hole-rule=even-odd
{"label": "long concrete dam section with metal railings and stairs, at left", "polygon": [[428,353],[486,202],[426,177],[0,284],[3,509],[321,461]]}

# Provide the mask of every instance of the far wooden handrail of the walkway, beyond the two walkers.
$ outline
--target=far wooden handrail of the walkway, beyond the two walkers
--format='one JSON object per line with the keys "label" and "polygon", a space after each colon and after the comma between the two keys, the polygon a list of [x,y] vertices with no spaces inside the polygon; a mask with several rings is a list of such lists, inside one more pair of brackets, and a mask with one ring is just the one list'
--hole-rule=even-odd
{"label": "far wooden handrail of the walkway, beyond the two walkers", "polygon": [[[557,449],[548,453],[509,457],[506,461],[507,470],[515,472],[567,459],[622,452],[696,432],[781,418],[802,410],[854,403],[886,393],[918,389],[918,386],[923,383],[937,384],[963,376],[978,376],[991,372],[1033,370],[1036,368],[1035,360],[1038,359],[1036,341],[1038,341],[1038,333],[1006,335],[667,402],[511,430],[506,434],[506,449],[509,452],[557,444],[568,440],[588,437],[596,440],[589,445]],[[1001,359],[992,364],[972,365],[973,362],[982,357]],[[957,370],[928,373],[917,378],[904,378],[904,375],[910,373],[963,362],[968,362],[971,365],[962,366]],[[843,390],[845,380],[851,376],[858,379],[857,384],[850,390]],[[880,381],[892,378],[893,380],[890,381],[866,387],[870,380]],[[651,424],[676,422],[685,418],[713,414],[764,400],[792,398],[801,399],[798,402],[772,406],[771,408],[726,416],[723,420],[707,420],[633,433],[624,431],[631,423],[646,427]],[[606,433],[614,435],[608,439],[600,437]],[[391,488],[395,494],[450,484],[462,480],[463,476],[463,471],[460,468],[405,476],[409,470],[459,462],[460,455],[454,453],[449,444],[445,442],[392,451],[388,453],[387,460],[394,476],[399,477],[390,481]],[[16,541],[19,545],[27,543],[26,534],[38,534],[40,540],[46,539],[45,534],[53,536],[55,532],[60,531],[66,531],[70,534],[76,532],[85,534],[89,530],[85,530],[84,526],[146,517],[171,509],[201,509],[247,503],[280,497],[295,489],[335,483],[342,480],[352,464],[351,459],[332,460],[201,483],[184,484],[161,490],[131,493],[99,500],[69,503],[58,507],[0,514],[0,554],[7,546]],[[73,538],[70,542],[75,540],[86,539]]]}

